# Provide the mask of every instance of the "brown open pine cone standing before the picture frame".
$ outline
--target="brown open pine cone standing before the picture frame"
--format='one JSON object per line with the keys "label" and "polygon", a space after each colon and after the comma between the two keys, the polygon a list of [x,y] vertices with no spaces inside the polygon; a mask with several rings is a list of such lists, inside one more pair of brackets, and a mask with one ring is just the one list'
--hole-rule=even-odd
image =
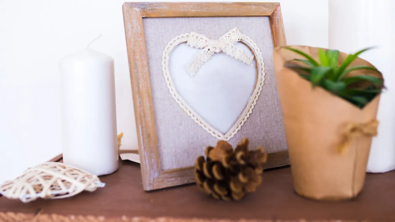
{"label": "brown open pine cone standing before the picture frame", "polygon": [[262,182],[267,154],[263,147],[248,151],[248,139],[242,139],[235,150],[226,141],[206,148],[206,159],[199,156],[195,164],[196,184],[216,199],[241,199],[254,192]]}

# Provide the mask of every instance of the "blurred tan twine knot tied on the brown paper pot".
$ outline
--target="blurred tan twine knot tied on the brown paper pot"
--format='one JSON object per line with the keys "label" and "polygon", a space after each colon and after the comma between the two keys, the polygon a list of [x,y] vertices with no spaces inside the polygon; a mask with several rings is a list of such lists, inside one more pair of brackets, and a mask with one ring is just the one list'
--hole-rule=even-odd
{"label": "blurred tan twine knot tied on the brown paper pot", "polygon": [[349,122],[344,128],[343,140],[337,147],[337,151],[343,154],[357,137],[373,137],[377,135],[378,120],[374,119],[366,123]]}

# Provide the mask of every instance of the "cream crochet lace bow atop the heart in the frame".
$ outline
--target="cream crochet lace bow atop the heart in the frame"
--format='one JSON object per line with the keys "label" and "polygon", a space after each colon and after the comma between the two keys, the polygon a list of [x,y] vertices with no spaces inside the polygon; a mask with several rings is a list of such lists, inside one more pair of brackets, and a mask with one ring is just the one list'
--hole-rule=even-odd
{"label": "cream crochet lace bow atop the heart in the frame", "polygon": [[210,40],[206,36],[191,32],[186,43],[192,47],[203,50],[201,50],[192,63],[189,64],[188,71],[190,75],[195,75],[195,72],[203,63],[214,55],[214,53],[219,53],[220,51],[223,51],[224,53],[252,66],[254,56],[248,56],[245,51],[234,45],[236,42],[241,40],[242,36],[243,34],[241,34],[238,28],[233,28],[218,40]]}

